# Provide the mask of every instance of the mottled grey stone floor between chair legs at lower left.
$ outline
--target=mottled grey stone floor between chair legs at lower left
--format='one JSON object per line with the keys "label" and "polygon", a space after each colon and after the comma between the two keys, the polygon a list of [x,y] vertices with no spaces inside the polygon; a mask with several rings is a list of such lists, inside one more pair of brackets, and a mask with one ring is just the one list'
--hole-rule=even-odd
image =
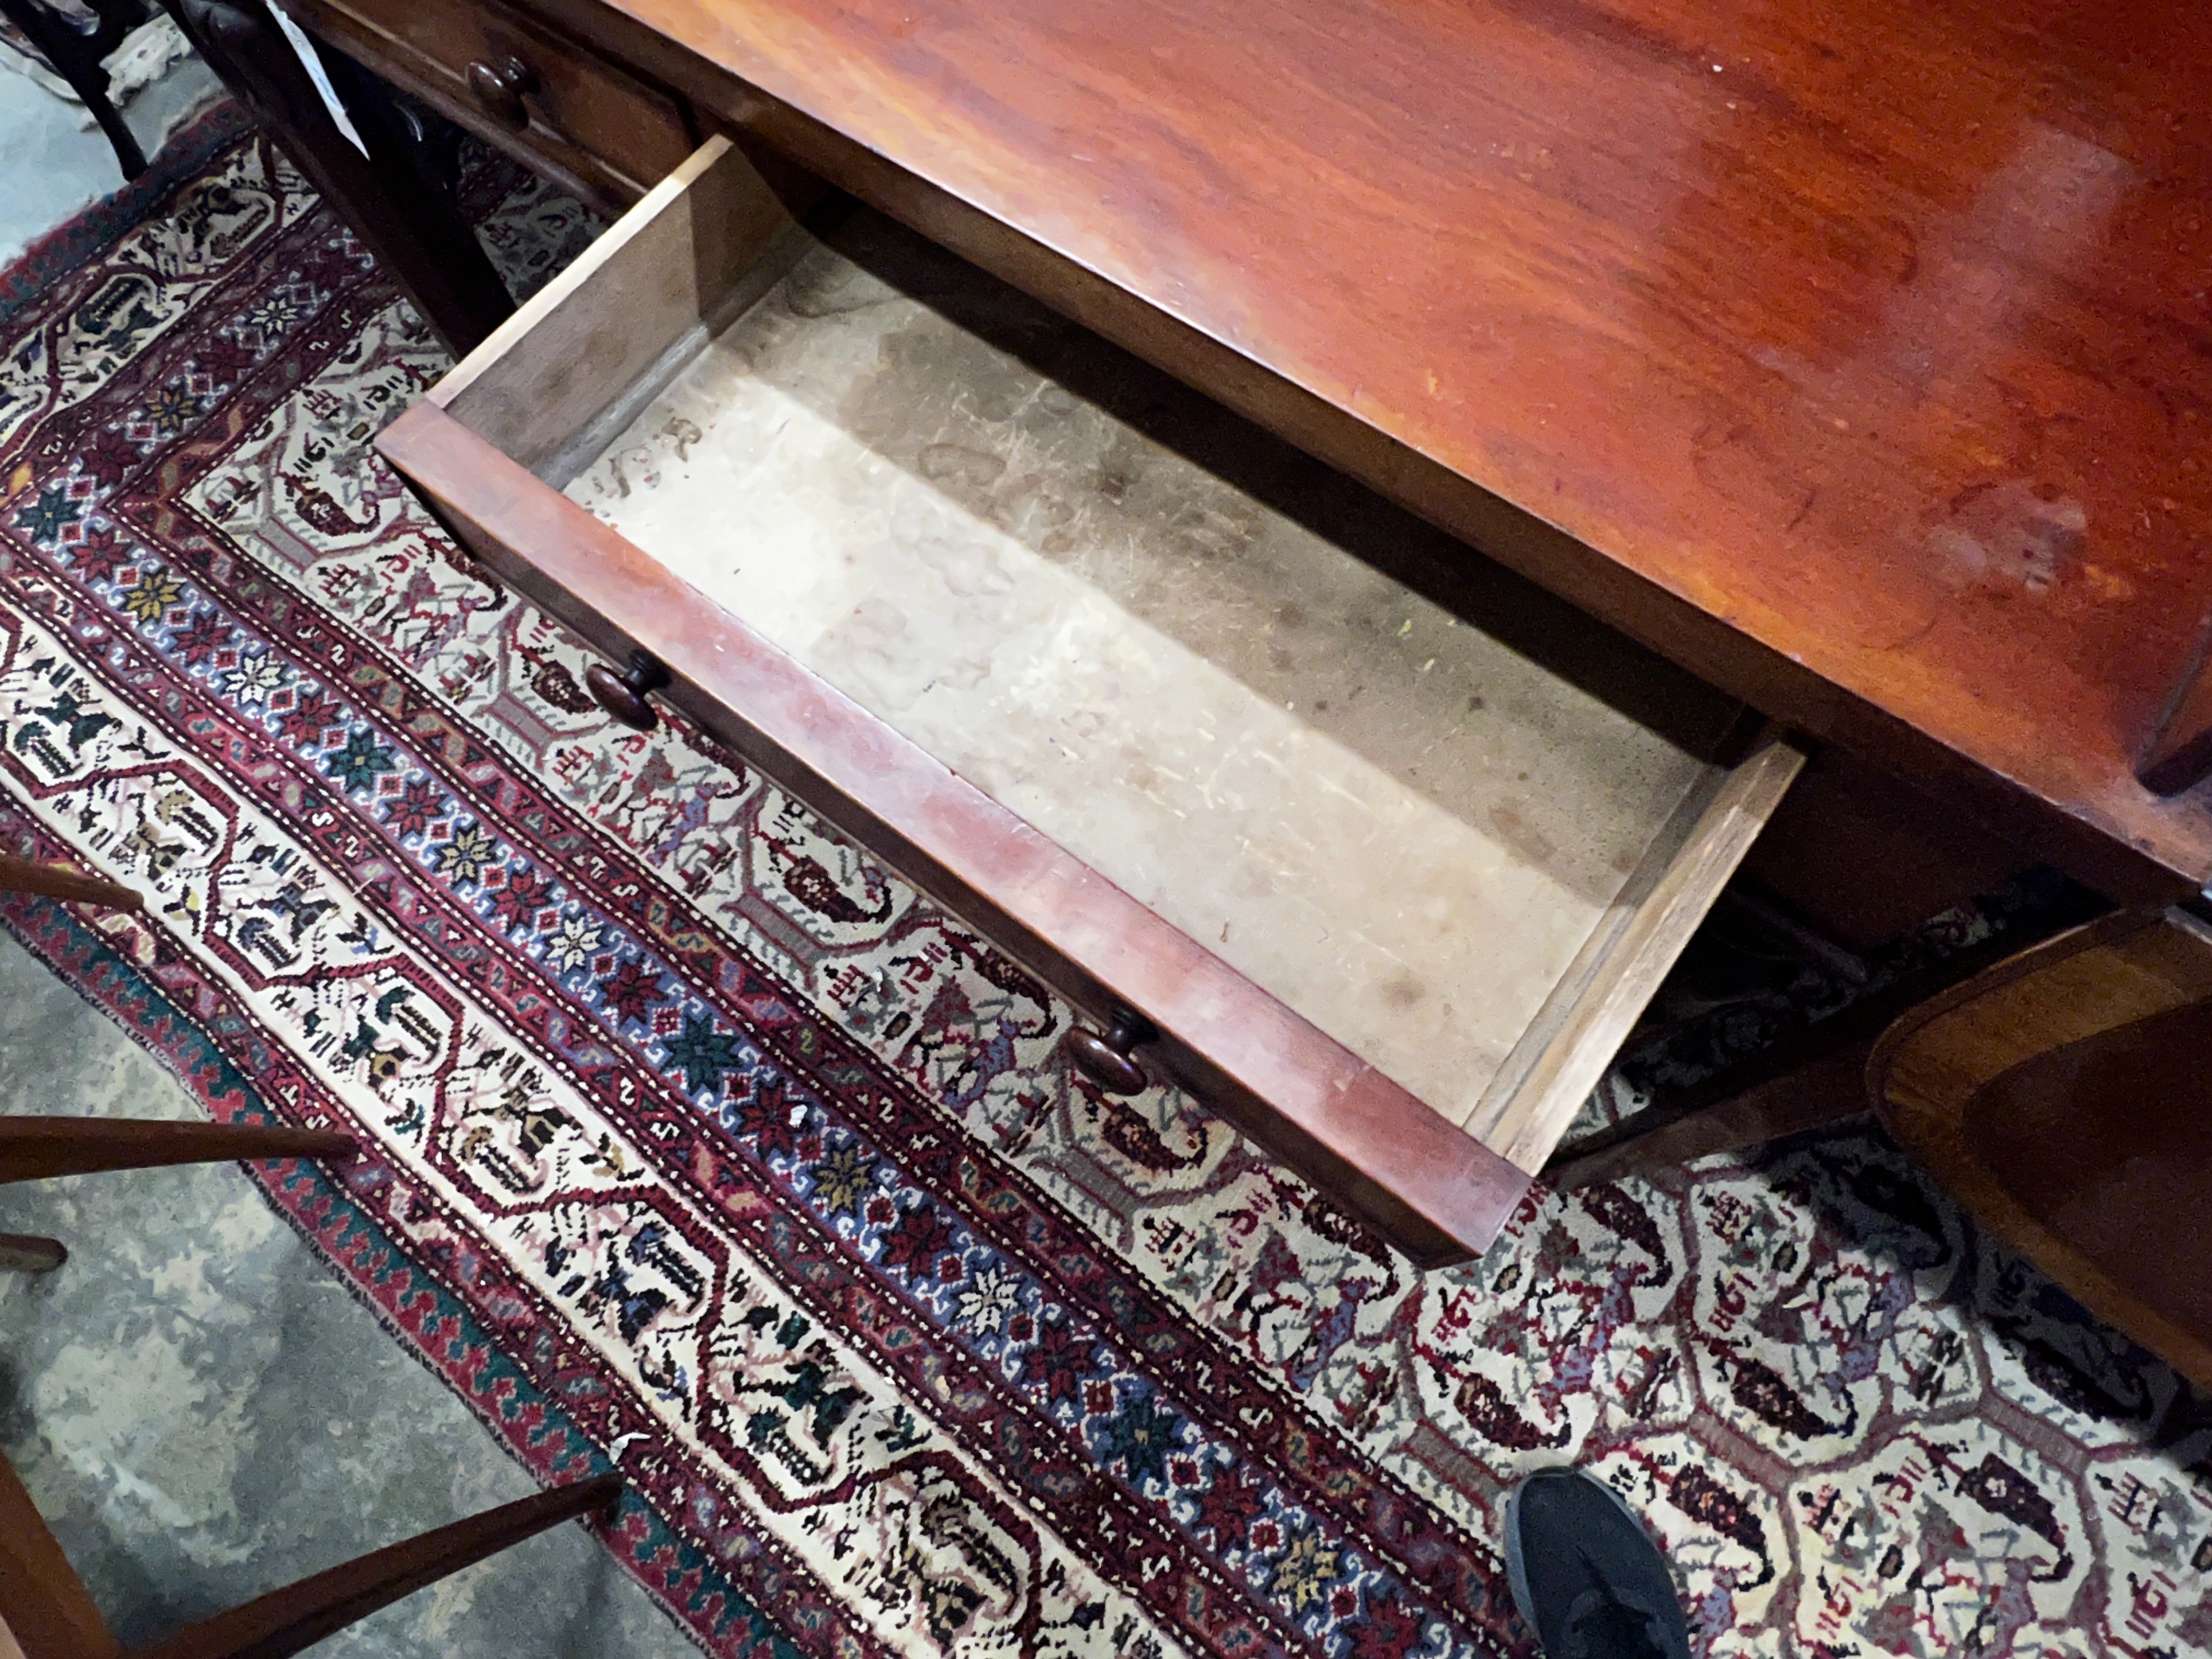
{"label": "mottled grey stone floor between chair legs at lower left", "polygon": [[[148,1053],[0,936],[0,1113],[188,1117]],[[237,1166],[0,1188],[0,1447],[124,1644],[478,1509],[531,1478]],[[675,1659],[690,1641],[562,1526],[319,1655]]]}

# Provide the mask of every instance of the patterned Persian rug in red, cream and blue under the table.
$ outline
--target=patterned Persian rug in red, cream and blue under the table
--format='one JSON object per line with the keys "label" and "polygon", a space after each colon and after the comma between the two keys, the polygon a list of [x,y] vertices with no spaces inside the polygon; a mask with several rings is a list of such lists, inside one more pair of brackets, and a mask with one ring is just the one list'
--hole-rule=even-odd
{"label": "patterned Persian rug in red, cream and blue under the table", "polygon": [[[0,292],[9,925],[717,1655],[1528,1652],[1579,1460],[1710,1655],[2212,1648],[2212,1411],[1878,1135],[1418,1274],[794,801],[580,695],[369,438],[445,367],[234,119]],[[480,170],[509,270],[591,226]]]}

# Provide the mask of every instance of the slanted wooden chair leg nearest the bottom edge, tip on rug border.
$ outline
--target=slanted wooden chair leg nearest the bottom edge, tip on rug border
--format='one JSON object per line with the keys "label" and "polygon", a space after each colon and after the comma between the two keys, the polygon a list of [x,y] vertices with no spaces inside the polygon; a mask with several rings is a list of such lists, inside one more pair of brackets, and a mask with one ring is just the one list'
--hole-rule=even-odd
{"label": "slanted wooden chair leg nearest the bottom edge, tip on rug border", "polygon": [[622,1475],[555,1486],[363,1555],[330,1573],[316,1573],[312,1579],[272,1590],[259,1601],[219,1613],[166,1641],[131,1652],[133,1659],[285,1659],[403,1595],[414,1595],[425,1584],[498,1555],[509,1544],[580,1515],[611,1511],[619,1498]]}

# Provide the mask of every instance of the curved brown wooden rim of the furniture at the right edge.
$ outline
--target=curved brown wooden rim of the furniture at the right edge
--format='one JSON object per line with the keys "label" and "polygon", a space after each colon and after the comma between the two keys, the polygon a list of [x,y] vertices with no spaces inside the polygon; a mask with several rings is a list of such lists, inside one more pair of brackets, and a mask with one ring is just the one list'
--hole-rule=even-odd
{"label": "curved brown wooden rim of the furniture at the right edge", "polygon": [[[2084,1002],[2079,987],[2055,982],[2068,964],[2086,969],[2099,951],[2139,969],[2119,995],[2101,1004]],[[2028,1015],[2026,1026],[1997,1018],[1960,1031],[1975,1009],[2026,987],[2042,991],[2015,998],[2035,1004],[2015,1011]],[[2119,911],[2006,958],[1902,1015],[1874,1044],[1865,1077],[1867,1099],[1882,1124],[1986,1232],[2055,1279],[2097,1318],[2212,1389],[2212,1343],[2115,1283],[2095,1259],[2044,1225],[1991,1179],[1964,1137],[1966,1099],[2024,1060],[2205,995],[2212,995],[2212,929],[2183,911]],[[1944,1066],[1931,1051],[1947,1042],[1980,1046],[1966,1066]]]}

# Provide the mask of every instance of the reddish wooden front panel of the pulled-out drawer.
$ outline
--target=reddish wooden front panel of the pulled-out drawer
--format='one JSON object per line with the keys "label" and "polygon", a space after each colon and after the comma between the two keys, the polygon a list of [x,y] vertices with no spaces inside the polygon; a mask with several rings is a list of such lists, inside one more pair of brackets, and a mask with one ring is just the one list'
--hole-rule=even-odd
{"label": "reddish wooden front panel of the pulled-out drawer", "polygon": [[1148,1060],[1416,1263],[1480,1254],[1504,1228],[1528,1175],[451,414],[418,403],[376,447],[498,575],[608,655],[653,653],[672,703],[1071,1002],[1150,1018]]}

